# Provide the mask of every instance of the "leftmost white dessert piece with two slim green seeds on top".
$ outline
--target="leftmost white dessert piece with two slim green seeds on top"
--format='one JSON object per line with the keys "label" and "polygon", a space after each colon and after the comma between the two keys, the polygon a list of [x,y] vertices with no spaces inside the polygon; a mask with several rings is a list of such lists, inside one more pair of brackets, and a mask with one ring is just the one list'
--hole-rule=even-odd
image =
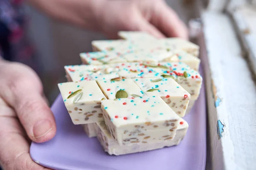
{"label": "leftmost white dessert piece with two slim green seeds on top", "polygon": [[59,83],[58,88],[75,125],[103,121],[101,100],[105,99],[96,81]]}

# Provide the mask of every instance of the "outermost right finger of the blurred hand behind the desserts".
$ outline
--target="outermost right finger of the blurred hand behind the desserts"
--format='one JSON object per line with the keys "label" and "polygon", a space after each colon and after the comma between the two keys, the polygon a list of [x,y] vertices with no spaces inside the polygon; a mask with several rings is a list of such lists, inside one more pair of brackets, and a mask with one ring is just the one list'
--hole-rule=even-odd
{"label": "outermost right finger of the blurred hand behind the desserts", "polygon": [[167,37],[189,39],[188,29],[185,24],[166,3],[157,3],[151,16],[151,23]]}

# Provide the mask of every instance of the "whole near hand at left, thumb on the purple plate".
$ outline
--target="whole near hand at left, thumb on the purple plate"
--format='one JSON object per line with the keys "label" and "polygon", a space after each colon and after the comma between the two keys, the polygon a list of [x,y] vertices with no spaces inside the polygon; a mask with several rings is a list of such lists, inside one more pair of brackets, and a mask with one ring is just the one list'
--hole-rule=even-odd
{"label": "whole near hand at left, thumb on the purple plate", "polygon": [[0,60],[0,164],[4,170],[49,170],[29,155],[30,140],[55,136],[40,79],[29,67]]}

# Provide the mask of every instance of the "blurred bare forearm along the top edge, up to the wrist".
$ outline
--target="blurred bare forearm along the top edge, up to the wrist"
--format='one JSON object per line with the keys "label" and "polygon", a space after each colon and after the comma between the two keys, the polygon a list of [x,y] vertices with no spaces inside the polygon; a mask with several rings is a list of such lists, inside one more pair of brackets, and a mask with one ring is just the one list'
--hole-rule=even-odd
{"label": "blurred bare forearm along the top edge, up to the wrist", "polygon": [[99,30],[105,0],[27,0],[50,17],[82,28]]}

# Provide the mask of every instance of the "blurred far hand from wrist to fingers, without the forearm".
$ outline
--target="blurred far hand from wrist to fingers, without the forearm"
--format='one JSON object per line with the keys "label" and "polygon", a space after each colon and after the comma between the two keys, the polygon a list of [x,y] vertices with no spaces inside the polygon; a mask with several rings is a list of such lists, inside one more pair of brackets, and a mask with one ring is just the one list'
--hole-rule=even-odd
{"label": "blurred far hand from wrist to fingers, without the forearm", "polygon": [[164,0],[104,1],[98,22],[111,38],[116,38],[118,31],[145,31],[157,38],[188,39],[185,24]]}

